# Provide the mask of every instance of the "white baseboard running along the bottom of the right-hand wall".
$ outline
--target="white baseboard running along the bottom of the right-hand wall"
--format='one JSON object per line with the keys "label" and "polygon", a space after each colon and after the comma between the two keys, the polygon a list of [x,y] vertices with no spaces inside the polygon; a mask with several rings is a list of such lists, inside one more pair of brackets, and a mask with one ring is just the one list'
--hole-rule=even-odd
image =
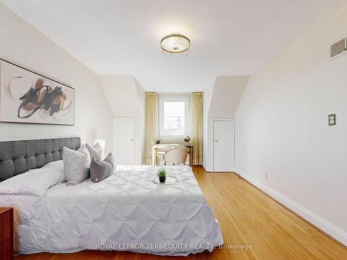
{"label": "white baseboard running along the bottom of the right-hand wall", "polygon": [[340,229],[339,227],[336,227],[335,225],[332,225],[332,223],[329,223],[328,221],[324,220],[323,218],[316,216],[311,211],[301,207],[300,205],[296,204],[295,202],[289,200],[285,196],[282,196],[277,191],[274,191],[273,189],[267,187],[262,182],[259,182],[258,180],[255,180],[253,177],[250,177],[249,175],[246,175],[242,171],[239,171],[239,169],[235,168],[235,173],[240,175],[244,180],[250,182],[255,187],[266,193],[268,196],[273,198],[274,200],[280,202],[280,204],[284,205],[291,211],[294,211],[298,216],[301,216],[301,218],[305,219],[308,223],[311,223],[324,233],[331,236],[333,239],[339,241],[339,243],[347,246],[347,232]]}

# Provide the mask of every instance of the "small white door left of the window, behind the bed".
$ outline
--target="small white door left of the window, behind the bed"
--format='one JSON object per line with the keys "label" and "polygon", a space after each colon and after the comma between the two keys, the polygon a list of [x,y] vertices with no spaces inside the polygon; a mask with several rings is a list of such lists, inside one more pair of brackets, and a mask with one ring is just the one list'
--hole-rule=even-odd
{"label": "small white door left of the window, behind the bed", "polygon": [[113,119],[113,150],[116,164],[135,164],[135,119]]}

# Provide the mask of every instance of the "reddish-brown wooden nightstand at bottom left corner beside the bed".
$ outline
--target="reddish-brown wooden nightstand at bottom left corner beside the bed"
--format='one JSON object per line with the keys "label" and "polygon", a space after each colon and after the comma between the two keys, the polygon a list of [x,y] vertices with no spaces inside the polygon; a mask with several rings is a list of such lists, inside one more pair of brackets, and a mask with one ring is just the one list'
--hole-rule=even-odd
{"label": "reddish-brown wooden nightstand at bottom left corner beside the bed", "polygon": [[0,259],[13,259],[13,208],[0,207]]}

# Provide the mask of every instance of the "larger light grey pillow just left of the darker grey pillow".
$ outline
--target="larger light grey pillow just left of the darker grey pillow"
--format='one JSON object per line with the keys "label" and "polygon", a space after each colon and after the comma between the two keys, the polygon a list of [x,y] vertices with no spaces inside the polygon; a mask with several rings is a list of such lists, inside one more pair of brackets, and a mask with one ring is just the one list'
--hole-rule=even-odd
{"label": "larger light grey pillow just left of the darker grey pillow", "polygon": [[64,147],[62,162],[64,162],[67,185],[78,184],[90,177],[90,153],[84,144],[78,150]]}

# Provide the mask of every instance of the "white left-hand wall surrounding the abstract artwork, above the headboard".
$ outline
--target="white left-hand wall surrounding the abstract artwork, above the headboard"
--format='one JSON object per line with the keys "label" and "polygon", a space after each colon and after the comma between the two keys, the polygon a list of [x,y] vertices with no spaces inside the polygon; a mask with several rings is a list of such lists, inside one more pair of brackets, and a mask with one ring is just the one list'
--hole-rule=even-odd
{"label": "white left-hand wall surrounding the abstract artwork, above the headboard", "polygon": [[81,137],[106,139],[112,150],[112,114],[99,78],[81,62],[0,3],[0,57],[75,88],[75,125],[0,123],[0,140]]}

